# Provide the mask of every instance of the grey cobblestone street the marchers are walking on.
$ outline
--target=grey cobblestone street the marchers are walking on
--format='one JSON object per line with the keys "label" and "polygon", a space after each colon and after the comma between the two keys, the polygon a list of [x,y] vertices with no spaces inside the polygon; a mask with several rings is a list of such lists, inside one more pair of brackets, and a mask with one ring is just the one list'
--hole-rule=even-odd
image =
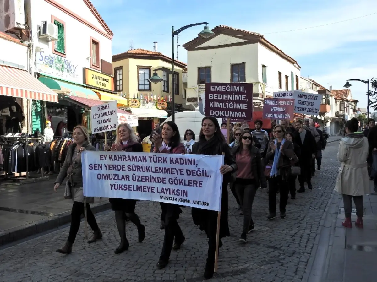
{"label": "grey cobblestone street the marchers are walking on", "polygon": [[[335,185],[338,146],[338,141],[328,144],[322,169],[313,178],[313,190],[297,193],[296,200],[289,200],[287,218],[267,221],[268,195],[266,190],[257,191],[253,204],[256,229],[246,245],[238,241],[243,217],[238,215],[229,192],[231,236],[222,240],[219,270],[210,281],[301,281]],[[66,241],[69,227],[0,250],[0,281],[202,281],[207,238],[193,224],[191,208],[183,208],[179,219],[186,241],[180,250],[172,251],[170,263],[163,270],[156,268],[164,236],[159,229],[159,204],[140,201],[136,213],[146,226],[146,239],[138,243],[136,227],[128,222],[128,251],[113,253],[120,239],[114,213],[108,211],[96,216],[103,239],[87,244],[82,221],[70,255],[55,252]]]}

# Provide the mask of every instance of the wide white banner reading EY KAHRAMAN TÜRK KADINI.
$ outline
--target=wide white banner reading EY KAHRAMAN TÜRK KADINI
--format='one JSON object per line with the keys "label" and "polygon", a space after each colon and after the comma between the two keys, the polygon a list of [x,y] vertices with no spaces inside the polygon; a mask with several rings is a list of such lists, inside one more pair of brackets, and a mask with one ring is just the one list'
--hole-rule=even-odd
{"label": "wide white banner reading EY KAHRAMAN T\u00dcRK KADINI", "polygon": [[84,196],[221,210],[222,155],[84,151],[81,157]]}

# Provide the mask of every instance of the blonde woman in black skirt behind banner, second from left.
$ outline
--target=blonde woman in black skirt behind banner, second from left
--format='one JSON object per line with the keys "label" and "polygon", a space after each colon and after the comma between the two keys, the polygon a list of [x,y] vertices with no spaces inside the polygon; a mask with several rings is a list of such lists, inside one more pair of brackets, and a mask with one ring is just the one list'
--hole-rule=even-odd
{"label": "blonde woman in black skirt behind banner, second from left", "polygon": [[[109,146],[105,144],[104,149],[109,150]],[[116,128],[115,143],[110,149],[112,152],[143,152],[143,146],[138,143],[135,132],[128,123],[121,123]],[[135,213],[136,201],[133,199],[116,199],[109,198],[111,207],[115,211],[115,222],[120,236],[120,245],[115,249],[115,254],[120,254],[128,250],[129,242],[126,236],[126,218],[133,222],[138,228],[139,242],[143,242],[145,238],[145,227],[141,224],[138,215]]]}

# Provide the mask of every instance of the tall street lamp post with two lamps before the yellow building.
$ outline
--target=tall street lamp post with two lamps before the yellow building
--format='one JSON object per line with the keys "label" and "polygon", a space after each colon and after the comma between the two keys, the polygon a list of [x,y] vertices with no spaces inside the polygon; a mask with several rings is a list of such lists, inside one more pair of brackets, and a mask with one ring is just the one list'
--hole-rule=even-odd
{"label": "tall street lamp post with two lamps before the yellow building", "polygon": [[[175,114],[175,98],[174,98],[174,36],[178,35],[180,32],[184,31],[187,28],[191,28],[192,26],[200,26],[200,25],[205,25],[204,29],[199,32],[199,36],[208,38],[214,35],[215,33],[211,31],[208,28],[208,23],[203,22],[203,23],[193,23],[192,25],[187,25],[187,26],[182,26],[181,28],[177,29],[176,31],[174,30],[174,26],[172,26],[172,121],[174,122],[174,114]],[[155,69],[155,71],[158,71],[159,69]],[[162,78],[159,77],[156,72],[153,74],[153,76],[149,79],[150,82],[153,83],[159,83],[162,81]],[[178,85],[177,85],[178,87]]]}

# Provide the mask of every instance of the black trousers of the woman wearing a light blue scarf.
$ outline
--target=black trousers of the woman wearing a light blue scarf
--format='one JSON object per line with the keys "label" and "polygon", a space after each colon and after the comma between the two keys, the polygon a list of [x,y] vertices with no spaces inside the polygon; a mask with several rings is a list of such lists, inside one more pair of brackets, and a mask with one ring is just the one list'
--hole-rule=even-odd
{"label": "black trousers of the woman wearing a light blue scarf", "polygon": [[285,213],[287,207],[288,184],[283,180],[282,176],[274,176],[268,179],[268,208],[271,214],[276,214],[276,193],[280,190],[280,205],[281,213]]}

